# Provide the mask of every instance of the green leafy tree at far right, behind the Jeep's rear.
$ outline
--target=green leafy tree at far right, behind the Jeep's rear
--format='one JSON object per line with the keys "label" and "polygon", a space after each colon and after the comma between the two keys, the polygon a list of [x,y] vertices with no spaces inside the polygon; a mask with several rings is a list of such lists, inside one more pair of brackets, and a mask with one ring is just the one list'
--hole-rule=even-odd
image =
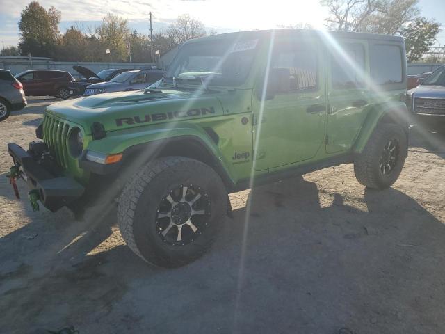
{"label": "green leafy tree at far right, behind the Jeep's rear", "polygon": [[435,42],[441,31],[440,24],[426,17],[417,17],[414,22],[401,29],[405,38],[407,61],[419,61]]}

